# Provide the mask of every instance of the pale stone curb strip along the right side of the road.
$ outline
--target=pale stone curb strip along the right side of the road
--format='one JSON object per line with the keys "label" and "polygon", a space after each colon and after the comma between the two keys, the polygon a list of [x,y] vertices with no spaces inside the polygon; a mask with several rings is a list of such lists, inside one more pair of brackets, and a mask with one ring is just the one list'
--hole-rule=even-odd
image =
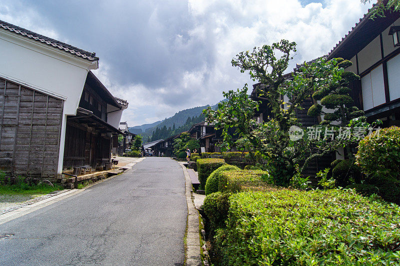
{"label": "pale stone curb strip along the right side of the road", "polygon": [[186,243],[185,243],[185,265],[200,266],[203,265],[200,254],[200,236],[198,231],[198,210],[194,207],[192,201],[192,186],[189,173],[184,165],[180,164],[184,173],[186,187],[187,203],[187,221],[186,221]]}

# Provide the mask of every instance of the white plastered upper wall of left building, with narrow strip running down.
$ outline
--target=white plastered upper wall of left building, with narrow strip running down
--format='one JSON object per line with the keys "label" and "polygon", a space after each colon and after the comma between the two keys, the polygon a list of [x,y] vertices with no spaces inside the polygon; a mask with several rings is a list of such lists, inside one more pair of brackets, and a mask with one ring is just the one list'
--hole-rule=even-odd
{"label": "white plastered upper wall of left building, with narrow strip running down", "polygon": [[66,116],[76,114],[87,72],[98,67],[47,44],[0,29],[0,76],[64,100],[57,172],[62,171]]}

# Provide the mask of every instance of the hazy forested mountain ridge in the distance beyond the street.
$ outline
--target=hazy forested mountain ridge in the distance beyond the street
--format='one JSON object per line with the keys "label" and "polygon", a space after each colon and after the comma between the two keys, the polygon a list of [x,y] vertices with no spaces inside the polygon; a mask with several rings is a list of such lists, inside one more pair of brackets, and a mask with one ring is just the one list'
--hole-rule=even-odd
{"label": "hazy forested mountain ridge in the distance beyond the street", "polygon": [[[198,106],[198,107],[193,107],[189,109],[184,109],[181,111],[176,112],[174,115],[171,117],[165,118],[162,121],[157,121],[151,124],[142,124],[142,125],[136,125],[133,127],[129,127],[129,132],[135,133],[135,134],[141,134],[143,137],[143,142],[147,140],[148,137],[151,137],[153,131],[155,131],[158,128],[163,128],[164,126],[166,128],[173,127],[173,124],[175,124],[175,128],[178,128],[179,126],[184,125],[187,122],[187,117],[198,117],[202,113],[203,109],[207,108],[209,105],[204,105],[204,106]],[[218,104],[212,105],[211,108],[216,109]]]}

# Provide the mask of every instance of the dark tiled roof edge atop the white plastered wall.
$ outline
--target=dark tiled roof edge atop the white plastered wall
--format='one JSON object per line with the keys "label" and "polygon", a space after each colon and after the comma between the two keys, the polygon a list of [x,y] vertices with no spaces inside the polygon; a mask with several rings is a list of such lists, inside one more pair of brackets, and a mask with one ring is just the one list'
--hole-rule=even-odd
{"label": "dark tiled roof edge atop the white plastered wall", "polygon": [[42,42],[42,43],[47,44],[49,46],[58,48],[60,50],[69,52],[71,54],[74,54],[76,56],[79,56],[79,57],[84,58],[84,59],[89,60],[89,61],[98,60],[98,57],[95,56],[94,52],[89,52],[89,51],[85,51],[85,50],[76,48],[76,47],[74,47],[72,45],[66,44],[64,42],[61,42],[61,41],[58,41],[58,40],[55,40],[55,39],[52,39],[52,38],[49,38],[49,37],[46,37],[46,36],[43,36],[43,35],[40,35],[40,34],[35,33],[33,31],[30,31],[30,30],[15,26],[13,24],[7,23],[7,22],[2,21],[2,20],[0,20],[0,28],[3,28],[5,30],[11,31],[11,32],[14,32],[15,34],[19,34],[19,35],[25,36],[25,37],[33,39],[33,40],[36,40],[38,42]]}

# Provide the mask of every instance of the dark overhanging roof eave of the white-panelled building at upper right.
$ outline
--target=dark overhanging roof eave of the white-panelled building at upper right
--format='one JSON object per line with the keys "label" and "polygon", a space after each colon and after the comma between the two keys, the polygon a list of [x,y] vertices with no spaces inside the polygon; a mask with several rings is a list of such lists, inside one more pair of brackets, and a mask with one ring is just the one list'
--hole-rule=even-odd
{"label": "dark overhanging roof eave of the white-panelled building at upper right", "polygon": [[[373,4],[374,6],[375,4]],[[359,19],[359,22],[355,23],[355,26],[330,50],[327,58],[342,57],[344,59],[351,59],[399,17],[400,12],[387,11],[385,17],[376,17],[372,20],[370,19],[370,14],[364,14]]]}

